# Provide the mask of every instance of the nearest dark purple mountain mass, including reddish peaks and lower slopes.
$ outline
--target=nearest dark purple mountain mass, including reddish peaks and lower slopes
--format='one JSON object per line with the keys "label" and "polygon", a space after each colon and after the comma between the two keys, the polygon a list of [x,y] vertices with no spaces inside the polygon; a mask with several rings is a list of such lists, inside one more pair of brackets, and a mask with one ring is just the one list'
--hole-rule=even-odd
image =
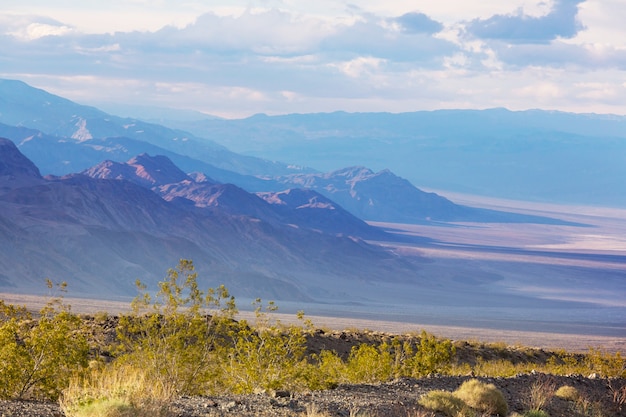
{"label": "nearest dark purple mountain mass, including reddish peaks and lower slopes", "polygon": [[332,283],[415,275],[411,261],[344,233],[382,232],[313,191],[266,195],[270,204],[145,155],[86,173],[44,178],[0,139],[1,289],[37,292],[50,277],[73,293],[133,295],[135,279],[154,288],[179,257],[196,262],[203,284],[243,297],[337,299]]}

